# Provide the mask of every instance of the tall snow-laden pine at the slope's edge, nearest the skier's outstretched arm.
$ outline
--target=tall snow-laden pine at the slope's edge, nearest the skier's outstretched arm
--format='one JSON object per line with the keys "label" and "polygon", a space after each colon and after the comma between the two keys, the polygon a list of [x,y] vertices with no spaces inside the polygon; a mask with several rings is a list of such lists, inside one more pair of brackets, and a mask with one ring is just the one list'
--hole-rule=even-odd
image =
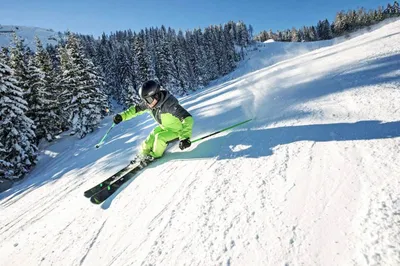
{"label": "tall snow-laden pine at the slope's edge, nearest the skier's outstretched arm", "polygon": [[101,89],[102,79],[73,34],[68,35],[66,47],[61,53],[62,105],[69,115],[73,133],[83,138],[99,124],[107,107],[107,99]]}

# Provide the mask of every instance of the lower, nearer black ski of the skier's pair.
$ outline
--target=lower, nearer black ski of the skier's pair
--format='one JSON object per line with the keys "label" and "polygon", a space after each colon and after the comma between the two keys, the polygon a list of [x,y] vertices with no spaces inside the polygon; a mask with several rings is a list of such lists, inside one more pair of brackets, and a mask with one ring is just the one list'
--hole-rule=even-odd
{"label": "lower, nearer black ski of the skier's pair", "polygon": [[134,168],[130,169],[119,178],[114,179],[114,182],[109,183],[107,186],[103,186],[103,189],[92,195],[90,201],[94,204],[101,204],[107,200],[115,191],[117,191],[123,184],[132,179],[136,174],[144,167],[141,164],[135,164]]}

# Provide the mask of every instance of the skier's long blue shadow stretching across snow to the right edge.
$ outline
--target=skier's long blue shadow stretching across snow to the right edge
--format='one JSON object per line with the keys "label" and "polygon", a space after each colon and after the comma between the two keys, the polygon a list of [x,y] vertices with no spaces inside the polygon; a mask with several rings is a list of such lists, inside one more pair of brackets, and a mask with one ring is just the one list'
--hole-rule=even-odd
{"label": "skier's long blue shadow stretching across snow to the right edge", "polygon": [[[241,129],[227,135],[205,139],[198,145],[193,145],[193,148],[187,152],[168,152],[163,158],[148,167],[157,167],[172,160],[207,158],[229,160],[266,157],[273,154],[274,147],[297,141],[362,141],[396,137],[400,137],[400,121],[385,123],[371,120],[356,123],[314,124],[255,130]],[[121,186],[101,207],[108,209],[113,199],[139,175],[140,173]]]}

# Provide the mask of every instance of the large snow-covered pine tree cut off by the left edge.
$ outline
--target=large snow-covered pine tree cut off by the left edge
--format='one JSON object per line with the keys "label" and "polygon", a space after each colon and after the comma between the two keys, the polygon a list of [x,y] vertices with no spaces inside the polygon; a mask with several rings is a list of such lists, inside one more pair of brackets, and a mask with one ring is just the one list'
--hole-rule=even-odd
{"label": "large snow-covered pine tree cut off by the left edge", "polygon": [[35,164],[33,121],[12,70],[0,59],[0,178],[21,178]]}

